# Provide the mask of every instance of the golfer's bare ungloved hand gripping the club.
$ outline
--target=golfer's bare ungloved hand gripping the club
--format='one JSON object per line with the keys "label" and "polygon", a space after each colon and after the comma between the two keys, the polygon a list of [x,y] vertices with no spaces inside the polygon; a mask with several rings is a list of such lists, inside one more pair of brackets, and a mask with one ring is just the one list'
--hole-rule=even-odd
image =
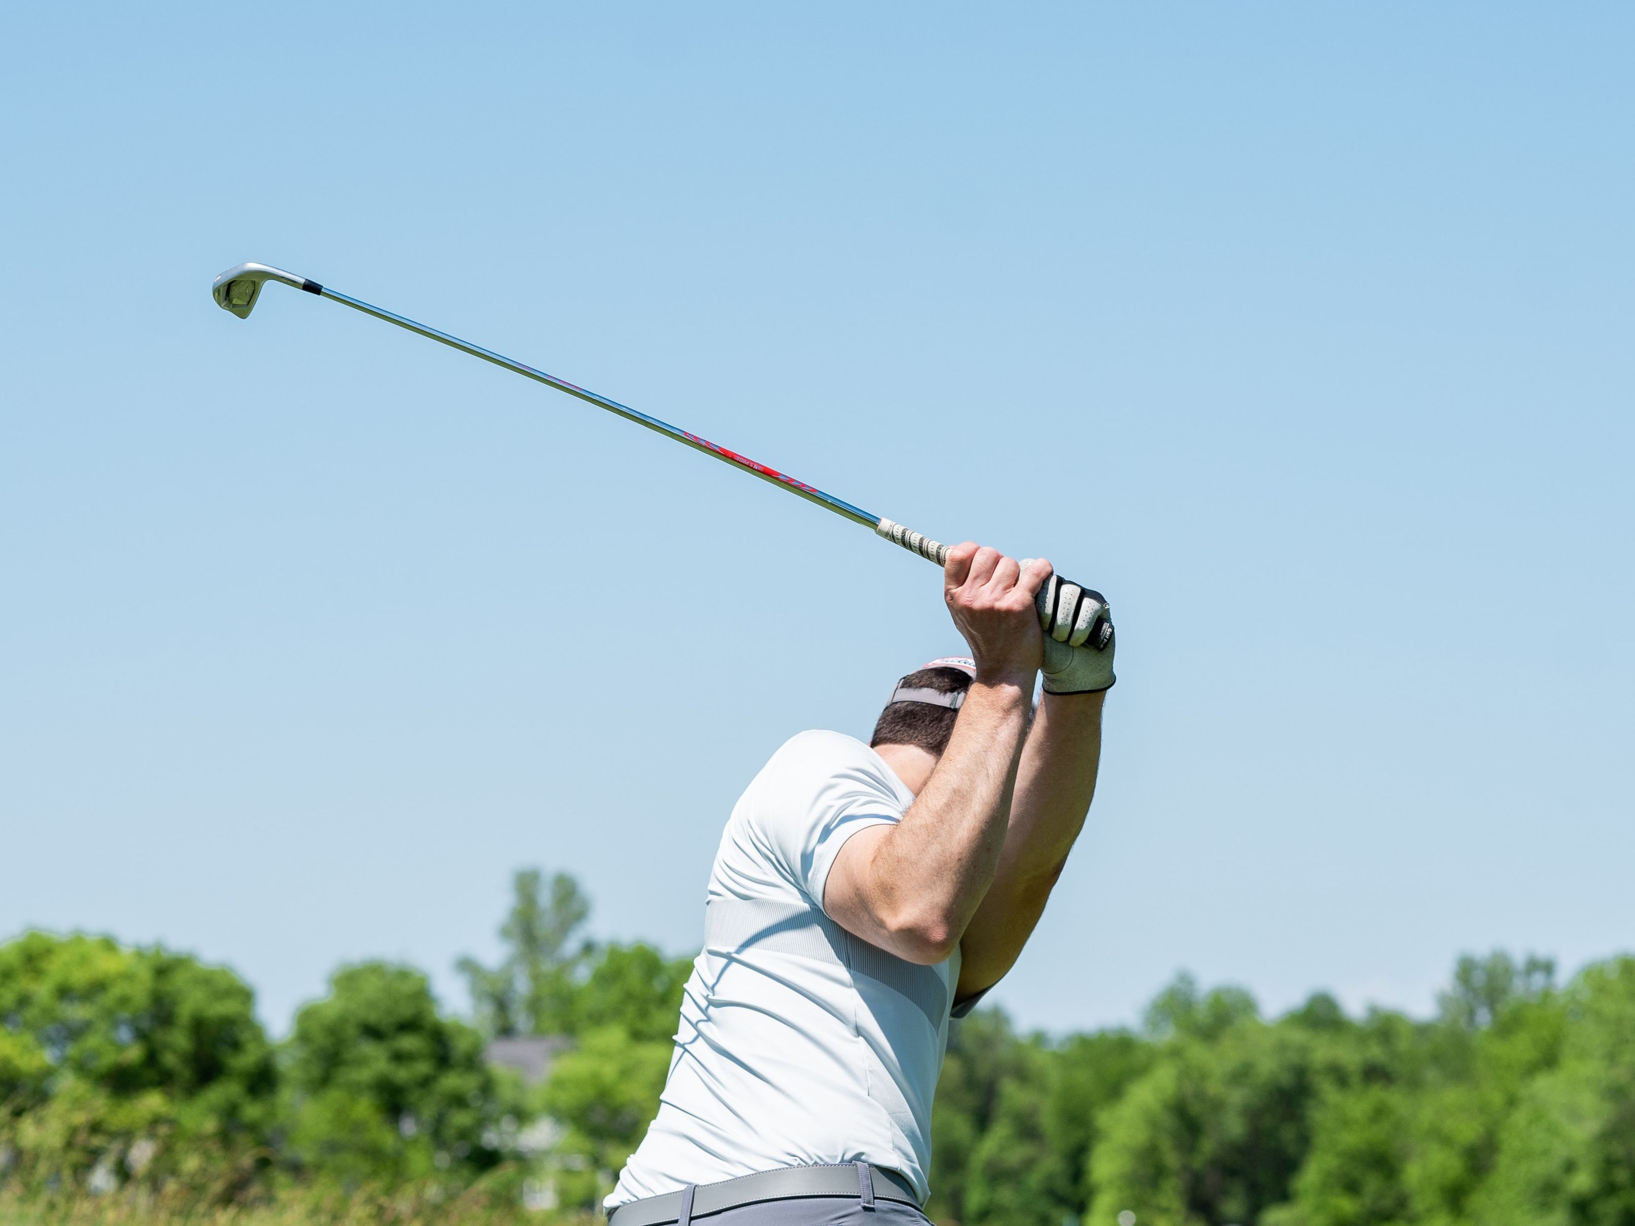
{"label": "golfer's bare ungloved hand gripping the club", "polygon": [[1045,559],[1030,559],[1022,566],[973,541],[948,551],[942,570],[943,600],[971,647],[979,682],[1038,670],[1045,636],[1033,600],[1048,577],[1050,562]]}

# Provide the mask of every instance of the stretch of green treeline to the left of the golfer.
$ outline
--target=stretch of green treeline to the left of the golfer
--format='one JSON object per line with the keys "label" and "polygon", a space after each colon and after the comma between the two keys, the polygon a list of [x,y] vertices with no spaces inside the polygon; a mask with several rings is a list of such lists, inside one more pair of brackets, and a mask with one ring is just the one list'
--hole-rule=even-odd
{"label": "stretch of green treeline to the left of the golfer", "polygon": [[[108,937],[28,932],[0,945],[0,1190],[185,1190],[240,1203],[291,1190],[417,1188],[432,1203],[492,1183],[589,1206],[646,1128],[690,960],[572,942],[574,881],[517,875],[497,968],[463,960],[476,1018],[427,978],[342,966],[283,1043],[232,971]],[[525,1085],[484,1051],[500,1035],[572,1040]]]}

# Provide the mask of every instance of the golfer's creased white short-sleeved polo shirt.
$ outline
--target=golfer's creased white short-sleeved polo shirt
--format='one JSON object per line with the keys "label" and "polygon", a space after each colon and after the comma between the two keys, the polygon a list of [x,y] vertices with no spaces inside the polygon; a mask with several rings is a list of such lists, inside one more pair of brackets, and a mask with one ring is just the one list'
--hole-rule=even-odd
{"label": "golfer's creased white short-sleeved polo shirt", "polygon": [[845,840],[912,803],[875,750],[839,732],[801,732],[754,778],[710,873],[659,1115],[608,1208],[857,1161],[901,1170],[925,1200],[960,955],[916,966],[822,912]]}

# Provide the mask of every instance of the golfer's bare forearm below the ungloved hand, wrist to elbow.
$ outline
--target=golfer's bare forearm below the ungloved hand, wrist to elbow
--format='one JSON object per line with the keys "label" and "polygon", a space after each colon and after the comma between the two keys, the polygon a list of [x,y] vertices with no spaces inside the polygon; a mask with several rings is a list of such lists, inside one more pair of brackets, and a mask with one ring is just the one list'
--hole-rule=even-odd
{"label": "golfer's bare forearm below the ungloved hand, wrist to elbow", "polygon": [[1032,677],[973,682],[930,780],[875,835],[858,886],[885,930],[876,943],[927,963],[960,943],[1004,855],[1030,690]]}

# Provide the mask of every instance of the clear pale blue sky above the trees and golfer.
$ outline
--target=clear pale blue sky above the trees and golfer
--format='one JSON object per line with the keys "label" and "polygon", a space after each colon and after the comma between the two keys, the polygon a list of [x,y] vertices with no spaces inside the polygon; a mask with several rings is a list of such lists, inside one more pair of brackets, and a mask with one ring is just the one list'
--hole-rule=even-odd
{"label": "clear pale blue sky above the trees and golfer", "polygon": [[960,646],[930,567],[724,466],[334,304],[217,311],[263,260],[1109,593],[1025,1025],[1635,946],[1632,36],[7,10],[0,935],[195,950],[276,1030],[366,956],[461,1005],[523,865],[680,951],[760,762]]}

